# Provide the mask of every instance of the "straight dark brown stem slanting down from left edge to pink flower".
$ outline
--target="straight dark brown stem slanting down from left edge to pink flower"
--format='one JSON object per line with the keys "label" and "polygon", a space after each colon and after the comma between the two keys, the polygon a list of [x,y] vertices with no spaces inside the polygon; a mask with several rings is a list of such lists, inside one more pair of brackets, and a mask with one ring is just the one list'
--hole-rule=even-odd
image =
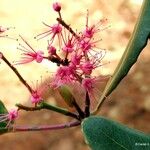
{"label": "straight dark brown stem slanting down from left edge to pink flower", "polygon": [[2,54],[3,61],[12,69],[12,71],[17,75],[19,80],[22,82],[22,84],[29,90],[30,93],[32,93],[32,88],[29,86],[29,84],[23,79],[23,77],[20,75],[18,70],[7,60],[7,58]]}

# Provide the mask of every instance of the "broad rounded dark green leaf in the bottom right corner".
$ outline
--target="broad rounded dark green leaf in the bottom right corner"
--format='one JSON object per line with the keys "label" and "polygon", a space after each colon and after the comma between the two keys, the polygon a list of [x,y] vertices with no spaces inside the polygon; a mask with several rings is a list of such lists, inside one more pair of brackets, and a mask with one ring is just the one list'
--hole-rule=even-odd
{"label": "broad rounded dark green leaf in the bottom right corner", "polygon": [[92,150],[150,149],[149,135],[104,117],[92,116],[84,119],[82,131]]}

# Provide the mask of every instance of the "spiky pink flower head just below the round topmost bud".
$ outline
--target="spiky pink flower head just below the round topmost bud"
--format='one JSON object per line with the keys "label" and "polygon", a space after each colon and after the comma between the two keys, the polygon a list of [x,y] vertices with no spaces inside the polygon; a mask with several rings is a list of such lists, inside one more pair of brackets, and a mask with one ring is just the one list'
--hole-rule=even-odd
{"label": "spiky pink flower head just below the round topmost bud", "polygon": [[55,36],[57,35],[58,36],[58,40],[60,40],[60,35],[61,35],[61,31],[62,31],[62,26],[57,23],[57,24],[54,24],[52,26],[49,26],[47,25],[46,23],[43,23],[45,26],[49,27],[50,29],[48,31],[45,31],[41,34],[38,34],[35,38],[36,39],[42,39],[42,38],[45,38],[46,36],[48,35],[51,35],[51,43],[54,41],[54,38]]}

